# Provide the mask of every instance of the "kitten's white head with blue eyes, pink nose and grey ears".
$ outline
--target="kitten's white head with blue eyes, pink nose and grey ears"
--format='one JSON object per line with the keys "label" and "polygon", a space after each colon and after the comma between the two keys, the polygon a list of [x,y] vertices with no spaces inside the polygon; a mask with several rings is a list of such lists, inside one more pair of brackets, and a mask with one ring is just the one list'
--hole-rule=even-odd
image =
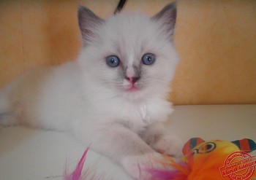
{"label": "kitten's white head with blue eyes, pink nose and grey ears", "polygon": [[87,79],[130,99],[167,95],[178,61],[172,42],[175,4],[154,17],[118,13],[108,20],[79,7],[78,22],[79,63]]}

